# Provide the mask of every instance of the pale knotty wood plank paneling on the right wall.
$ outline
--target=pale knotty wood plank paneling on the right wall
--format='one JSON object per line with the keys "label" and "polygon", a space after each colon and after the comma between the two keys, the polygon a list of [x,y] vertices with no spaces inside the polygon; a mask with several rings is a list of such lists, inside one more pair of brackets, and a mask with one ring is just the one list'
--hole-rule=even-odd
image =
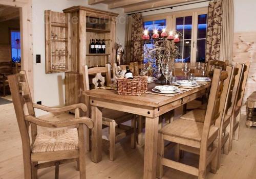
{"label": "pale knotty wood plank paneling on the right wall", "polygon": [[246,83],[242,113],[245,114],[247,97],[256,90],[256,32],[234,33],[232,64],[251,62]]}

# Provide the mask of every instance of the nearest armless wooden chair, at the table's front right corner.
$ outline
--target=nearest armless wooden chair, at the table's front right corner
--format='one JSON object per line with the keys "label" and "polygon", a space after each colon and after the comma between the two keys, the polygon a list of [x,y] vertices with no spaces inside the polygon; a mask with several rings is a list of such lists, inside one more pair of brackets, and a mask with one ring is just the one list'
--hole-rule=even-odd
{"label": "nearest armless wooden chair, at the table's front right corner", "polygon": [[[219,109],[221,106],[221,94],[224,88],[223,84],[229,80],[227,71],[221,71],[220,69],[214,70],[204,123],[177,119],[165,125],[161,130],[159,130],[159,146],[157,156],[158,178],[162,178],[163,165],[196,175],[198,178],[205,178],[206,167],[210,163],[212,164],[211,171],[214,173],[216,172],[216,139],[218,138],[219,127],[215,126],[214,123],[221,115]],[[177,162],[164,158],[165,140],[177,143],[175,147],[175,159]],[[190,148],[191,151],[197,152],[197,154],[199,154],[199,168],[178,162],[180,156],[180,145],[186,146],[187,148]]]}

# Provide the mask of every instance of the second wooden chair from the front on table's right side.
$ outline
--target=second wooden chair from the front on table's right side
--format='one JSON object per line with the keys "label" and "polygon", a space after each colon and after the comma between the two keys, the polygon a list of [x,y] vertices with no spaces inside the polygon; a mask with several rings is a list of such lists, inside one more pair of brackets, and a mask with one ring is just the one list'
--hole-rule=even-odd
{"label": "second wooden chair from the front on table's right side", "polygon": [[[237,89],[238,86],[240,85],[240,78],[241,78],[241,73],[243,70],[243,64],[238,64],[237,68],[233,68],[232,72],[231,72],[231,80],[230,83],[228,85],[226,85],[228,88],[225,88],[228,90],[228,92],[225,92],[225,89],[223,90],[223,97],[225,98],[222,99],[222,106],[225,104],[224,106],[224,110],[223,110],[223,115],[221,117],[221,119],[219,118],[215,125],[220,127],[220,132],[219,132],[219,137],[218,137],[218,168],[220,167],[220,159],[221,159],[221,151],[222,148],[225,147],[224,145],[228,144],[228,138],[229,138],[229,128],[227,129],[227,126],[230,124],[230,119],[231,119],[231,113],[232,113],[232,109],[233,109],[233,104],[234,104],[234,100],[235,100],[235,96],[236,93],[238,92],[238,90],[233,90],[233,89]],[[227,67],[227,71],[229,71],[230,66]],[[225,86],[225,84],[224,84]],[[226,87],[225,86],[225,87]],[[234,94],[233,94],[234,93]],[[205,113],[206,113],[206,108],[205,106],[202,106],[201,108],[189,111],[188,113],[182,115],[180,118],[181,119],[185,119],[185,120],[192,120],[192,121],[197,121],[197,122],[204,122],[204,118],[205,118]],[[224,152],[225,154],[228,154],[228,152]]]}

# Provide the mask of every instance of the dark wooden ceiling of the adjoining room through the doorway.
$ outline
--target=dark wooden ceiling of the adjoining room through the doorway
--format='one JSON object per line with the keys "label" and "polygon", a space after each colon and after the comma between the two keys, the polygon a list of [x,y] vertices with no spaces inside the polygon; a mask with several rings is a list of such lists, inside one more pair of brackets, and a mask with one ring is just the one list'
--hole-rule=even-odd
{"label": "dark wooden ceiling of the adjoining room through the doorway", "polygon": [[19,19],[19,9],[0,5],[0,22]]}

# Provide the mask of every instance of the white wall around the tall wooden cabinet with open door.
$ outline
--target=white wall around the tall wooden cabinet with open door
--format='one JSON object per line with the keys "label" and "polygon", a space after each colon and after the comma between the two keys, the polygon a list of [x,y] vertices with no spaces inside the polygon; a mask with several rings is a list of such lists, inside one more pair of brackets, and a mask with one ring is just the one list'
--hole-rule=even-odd
{"label": "white wall around the tall wooden cabinet with open door", "polygon": [[[46,74],[45,72],[45,10],[62,12],[72,6],[88,6],[108,10],[106,5],[89,6],[86,0],[33,0],[33,68],[34,68],[34,101],[42,101],[46,106],[65,105],[64,73]],[[125,15],[123,9],[112,10],[118,13],[117,39],[124,44]],[[117,41],[118,42],[118,41]],[[41,63],[35,63],[35,55],[41,55]],[[36,111],[37,115],[43,115]]]}

